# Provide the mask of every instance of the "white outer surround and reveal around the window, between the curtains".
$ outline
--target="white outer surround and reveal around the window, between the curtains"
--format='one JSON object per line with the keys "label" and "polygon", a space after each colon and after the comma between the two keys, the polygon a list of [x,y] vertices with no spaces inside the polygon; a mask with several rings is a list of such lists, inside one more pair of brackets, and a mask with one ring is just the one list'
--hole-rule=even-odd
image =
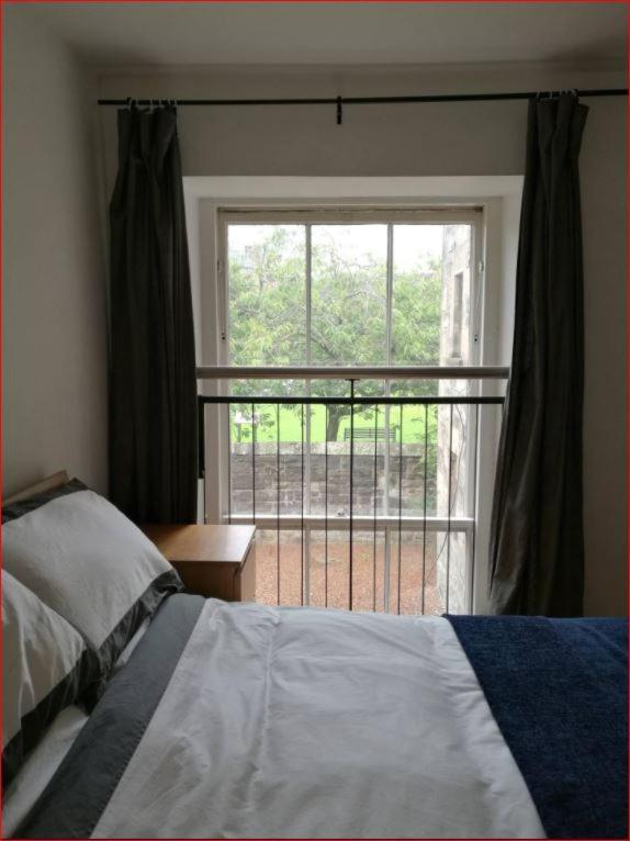
{"label": "white outer surround and reveal around the window, between the curtains", "polygon": [[[475,262],[483,272],[482,283],[477,287],[475,300],[479,306],[475,313],[479,324],[471,334],[479,336],[479,357],[481,365],[505,363],[505,346],[509,347],[509,335],[502,339],[502,332],[509,333],[511,324],[503,316],[510,313],[513,290],[504,288],[506,270],[511,273],[516,262],[516,231],[518,208],[522,190],[522,177],[457,177],[457,178],[299,178],[299,177],[196,177],[184,178],[187,199],[187,218],[189,226],[189,247],[191,254],[191,276],[195,304],[195,329],[198,341],[198,361],[200,365],[222,365],[221,326],[213,315],[220,309],[221,267],[218,263],[218,211],[221,209],[306,209],[347,208],[369,205],[374,210],[443,211],[446,208],[474,208],[484,210],[485,225],[482,235],[481,260],[475,254]],[[441,213],[440,213],[441,216]],[[443,224],[443,216],[440,218]],[[217,268],[220,269],[217,271]],[[504,323],[505,322],[505,323]],[[203,327],[202,327],[203,326]],[[499,352],[503,351],[503,358]],[[507,360],[508,361],[508,360]],[[472,362],[472,360],[471,360]],[[504,384],[496,381],[483,381],[480,394],[494,396],[502,394]],[[225,393],[222,381],[200,381],[200,393]],[[488,498],[494,482],[494,452],[498,438],[498,413],[494,407],[488,412],[480,408],[482,429],[479,440],[479,472],[474,489],[476,497],[475,518],[477,560],[474,581],[472,582],[473,612],[486,609],[487,581],[487,538],[490,528]],[[211,442],[213,430],[218,424],[216,407],[206,411],[206,446]],[[214,435],[216,439],[216,435]],[[218,441],[217,441],[218,442]],[[226,447],[217,447],[209,461],[216,473],[225,471],[217,458],[221,450],[226,455]],[[485,453],[485,455],[484,455]],[[225,462],[225,459],[224,459]],[[223,481],[223,480],[222,480]],[[220,482],[221,484],[221,482]],[[216,498],[216,476],[206,476],[206,498],[209,520],[215,520],[220,511]],[[480,501],[485,505],[480,506]],[[216,520],[218,522],[218,520]],[[316,527],[313,524],[312,527]],[[339,524],[340,525],[340,524]],[[453,522],[457,527],[457,523]],[[340,526],[341,527],[341,526]]]}

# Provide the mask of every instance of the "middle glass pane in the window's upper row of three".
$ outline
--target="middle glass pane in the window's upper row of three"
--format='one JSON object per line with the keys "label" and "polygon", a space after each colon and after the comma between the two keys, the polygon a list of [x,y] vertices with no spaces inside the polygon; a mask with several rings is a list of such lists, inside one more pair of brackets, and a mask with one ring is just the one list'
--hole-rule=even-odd
{"label": "middle glass pane in the window's upper row of three", "polygon": [[314,365],[385,365],[386,225],[313,225]]}

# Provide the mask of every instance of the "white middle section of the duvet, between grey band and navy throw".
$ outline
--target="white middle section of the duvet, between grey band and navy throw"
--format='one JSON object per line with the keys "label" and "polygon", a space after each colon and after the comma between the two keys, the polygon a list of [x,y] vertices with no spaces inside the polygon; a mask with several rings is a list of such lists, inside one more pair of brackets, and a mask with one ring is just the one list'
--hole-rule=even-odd
{"label": "white middle section of the duvet, between grey band and navy throw", "polygon": [[544,838],[448,620],[210,599],[97,838]]}

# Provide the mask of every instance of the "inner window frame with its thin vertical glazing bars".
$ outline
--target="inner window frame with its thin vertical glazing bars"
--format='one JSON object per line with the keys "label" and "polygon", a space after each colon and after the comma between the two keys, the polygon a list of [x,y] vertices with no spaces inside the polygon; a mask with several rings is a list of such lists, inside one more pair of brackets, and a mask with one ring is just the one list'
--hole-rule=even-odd
{"label": "inner window frame with its thin vertical glazing bars", "polygon": [[[485,237],[486,237],[486,213],[485,208],[479,204],[461,205],[453,203],[452,205],[445,204],[438,206],[430,205],[413,205],[413,206],[400,206],[398,204],[358,204],[351,206],[342,206],[340,204],[320,204],[320,205],[289,205],[279,206],[277,204],[256,204],[254,206],[247,206],[246,204],[216,204],[214,206],[215,218],[215,251],[216,251],[216,271],[215,271],[215,301],[216,307],[216,324],[215,332],[217,337],[217,356],[214,360],[215,365],[229,366],[229,277],[228,277],[228,226],[229,225],[271,225],[271,224],[300,224],[306,226],[306,330],[307,330],[307,354],[306,366],[311,363],[310,359],[310,334],[311,334],[311,226],[313,224],[384,224],[387,226],[387,287],[386,287],[386,360],[384,365],[395,367],[391,361],[392,352],[392,288],[393,288],[393,226],[395,224],[466,224],[471,225],[471,259],[470,259],[470,328],[469,328],[469,366],[476,366],[481,363],[482,356],[482,321],[483,321],[483,299],[484,299],[484,281],[485,281]],[[463,349],[463,348],[462,348]],[[306,390],[305,393],[311,393],[311,380],[304,378]],[[227,394],[228,382],[220,382],[213,389],[215,393]],[[390,381],[385,383],[386,395],[391,393]],[[471,395],[481,393],[480,383],[477,381],[471,381]],[[229,505],[226,504],[226,497],[229,493],[229,415],[228,407],[215,407],[215,420],[212,423],[214,431],[213,438],[215,439],[214,452],[218,458],[220,463],[220,490],[218,494],[214,494],[214,500],[210,501],[214,511],[212,512],[212,522],[227,522],[227,511]],[[385,426],[389,428],[390,408],[386,407]],[[473,425],[472,413],[470,415],[471,428]],[[207,430],[207,427],[206,427]],[[477,440],[477,429],[474,429],[474,440],[480,446]],[[305,442],[310,441],[310,417],[306,413],[305,419]],[[390,479],[390,450],[391,444],[389,436],[385,436],[386,441],[386,455],[385,455],[385,471],[386,481]],[[311,487],[308,482],[310,476],[310,461],[311,449],[305,448],[305,519],[304,519],[304,547],[305,547],[305,594],[307,604],[308,594],[308,569],[310,569],[310,537],[312,530],[317,530],[320,516],[311,514]],[[466,479],[465,479],[465,505],[466,514],[463,517],[452,517],[451,527],[453,531],[464,531],[469,535],[472,532],[473,523],[477,522],[477,511],[473,511],[476,507],[475,501],[477,498],[477,489],[472,487],[471,480],[474,480],[474,459],[466,459]],[[214,503],[214,504],[213,504]],[[257,517],[258,518],[258,517]],[[261,517],[263,519],[263,517]],[[230,517],[232,523],[247,523],[250,520],[247,515],[233,514]],[[277,518],[273,517],[273,527],[275,527]],[[385,511],[383,514],[376,517],[378,528],[383,531],[384,540],[384,587],[383,597],[385,603],[389,601],[389,581],[390,581],[390,558],[392,556],[395,537],[394,532],[397,531],[397,525],[395,523],[394,515],[389,509],[389,494],[385,494]],[[460,528],[458,529],[458,525]],[[271,527],[271,526],[270,526]],[[281,528],[295,528],[295,516],[285,515],[280,517]],[[339,524],[341,529],[344,526]],[[413,525],[408,526],[409,529],[416,528]],[[474,551],[474,547],[471,546],[472,541],[469,540],[469,559]],[[469,607],[472,610],[474,606],[474,570],[469,562],[469,586],[468,586],[468,602]]]}

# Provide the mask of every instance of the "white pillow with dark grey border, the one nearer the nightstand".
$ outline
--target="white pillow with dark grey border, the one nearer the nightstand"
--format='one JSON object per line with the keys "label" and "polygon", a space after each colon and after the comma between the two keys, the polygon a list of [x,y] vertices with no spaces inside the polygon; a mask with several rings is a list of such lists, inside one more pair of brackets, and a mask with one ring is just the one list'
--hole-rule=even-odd
{"label": "white pillow with dark grey border, the one nearer the nightstand", "polygon": [[146,616],[182,583],[157,547],[72,480],[2,511],[4,569],[67,619],[106,677]]}

